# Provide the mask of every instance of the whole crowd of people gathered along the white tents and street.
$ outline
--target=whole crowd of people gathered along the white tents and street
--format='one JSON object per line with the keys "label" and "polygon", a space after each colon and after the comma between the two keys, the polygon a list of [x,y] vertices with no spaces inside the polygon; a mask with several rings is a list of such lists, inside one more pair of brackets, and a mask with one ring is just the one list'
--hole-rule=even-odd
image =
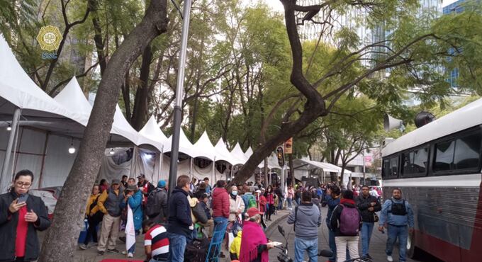
{"label": "whole crowd of people gathered along the white tents and street", "polygon": [[[28,194],[33,178],[31,171],[19,171],[10,192],[0,195],[0,245],[4,249],[0,261],[38,258],[36,234],[47,229],[50,220],[43,200]],[[414,227],[412,208],[400,189],[394,189],[392,197],[381,205],[380,194],[369,186],[340,190],[333,184],[303,187],[300,183],[288,186],[283,193],[279,185],[265,188],[261,183],[244,183],[227,188],[223,180],[211,186],[209,178],[197,181],[181,175],[169,197],[168,187],[162,180],[154,186],[142,174],[138,181],[123,176],[110,184],[105,180],[96,183],[87,200],[85,216],[89,226],[79,248],[96,246],[99,255],[122,253],[132,258],[135,239],[143,234],[146,261],[192,261],[189,252],[194,241],[205,239],[209,243],[213,232],[222,229],[231,260],[269,261],[268,251],[274,242],[264,234],[265,221],[286,207],[290,210],[287,223],[293,224],[295,232],[294,261],[303,261],[307,254],[313,262],[318,261],[321,208],[327,207],[325,222],[333,252],[329,261],[358,257],[370,260],[369,244],[376,222],[381,232],[387,230],[387,261],[393,261],[397,239],[399,261],[405,261],[408,232]],[[121,231],[125,237],[119,237]],[[125,242],[125,250],[116,249],[118,239]],[[225,254],[213,256],[223,258]]]}

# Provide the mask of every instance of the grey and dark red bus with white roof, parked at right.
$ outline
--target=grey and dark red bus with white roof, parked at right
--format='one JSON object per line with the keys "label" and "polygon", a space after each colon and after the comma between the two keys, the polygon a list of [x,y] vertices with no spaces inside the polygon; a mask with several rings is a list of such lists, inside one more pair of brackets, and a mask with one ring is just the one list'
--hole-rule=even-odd
{"label": "grey and dark red bus with white roof, parked at right", "polygon": [[384,199],[400,188],[415,215],[408,256],[482,261],[481,143],[479,99],[383,147]]}

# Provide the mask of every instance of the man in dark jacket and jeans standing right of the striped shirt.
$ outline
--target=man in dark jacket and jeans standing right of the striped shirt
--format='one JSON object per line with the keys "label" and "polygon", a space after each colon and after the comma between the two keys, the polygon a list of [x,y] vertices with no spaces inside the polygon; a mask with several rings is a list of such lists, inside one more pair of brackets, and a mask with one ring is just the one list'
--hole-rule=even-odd
{"label": "man in dark jacket and jeans standing right of the striped shirt", "polygon": [[189,192],[189,176],[182,175],[177,178],[176,188],[172,190],[169,198],[169,218],[167,221],[167,237],[169,237],[168,261],[184,261],[186,241],[191,237],[194,229],[191,220],[191,207],[187,200]]}

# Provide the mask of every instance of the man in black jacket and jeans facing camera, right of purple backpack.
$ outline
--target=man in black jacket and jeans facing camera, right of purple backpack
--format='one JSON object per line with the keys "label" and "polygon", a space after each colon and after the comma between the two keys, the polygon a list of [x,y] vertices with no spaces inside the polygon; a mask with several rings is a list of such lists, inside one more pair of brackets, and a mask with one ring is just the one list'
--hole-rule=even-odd
{"label": "man in black jacket and jeans facing camera, right of purple backpack", "polygon": [[[357,197],[357,207],[361,213],[361,256],[370,258],[369,246],[371,239],[371,232],[374,231],[375,212],[381,210],[379,200],[370,195],[370,188],[368,186],[361,187],[361,194]],[[378,218],[378,217],[377,217]]]}

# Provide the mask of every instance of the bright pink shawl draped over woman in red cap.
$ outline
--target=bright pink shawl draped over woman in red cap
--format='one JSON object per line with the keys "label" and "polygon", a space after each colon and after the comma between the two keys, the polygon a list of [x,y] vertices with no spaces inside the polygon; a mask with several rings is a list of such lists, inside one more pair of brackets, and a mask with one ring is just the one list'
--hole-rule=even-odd
{"label": "bright pink shawl draped over woman in red cap", "polygon": [[[242,225],[240,262],[251,262],[258,256],[258,245],[267,244],[263,229],[257,222],[245,221]],[[268,262],[268,250],[261,254],[261,262]]]}

